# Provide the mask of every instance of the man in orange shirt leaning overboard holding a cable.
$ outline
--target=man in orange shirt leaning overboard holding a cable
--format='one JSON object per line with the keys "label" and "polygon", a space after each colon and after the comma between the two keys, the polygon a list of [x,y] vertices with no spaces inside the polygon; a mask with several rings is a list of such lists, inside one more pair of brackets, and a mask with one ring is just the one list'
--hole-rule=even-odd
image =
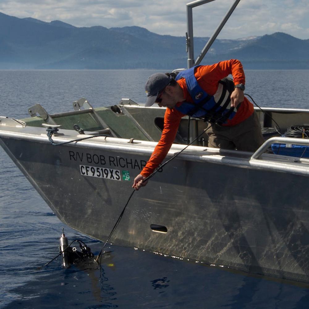
{"label": "man in orange shirt leaning overboard holding a cable", "polygon": [[[226,78],[229,74],[234,83]],[[255,151],[264,139],[253,105],[244,97],[244,84],[243,67],[236,59],[184,70],[176,80],[163,73],[151,75],[145,86],[145,106],[157,103],[159,107],[167,108],[164,129],[132,187],[138,190],[147,184],[143,180],[167,155],[185,115],[203,117],[210,122],[207,130],[209,147]]]}

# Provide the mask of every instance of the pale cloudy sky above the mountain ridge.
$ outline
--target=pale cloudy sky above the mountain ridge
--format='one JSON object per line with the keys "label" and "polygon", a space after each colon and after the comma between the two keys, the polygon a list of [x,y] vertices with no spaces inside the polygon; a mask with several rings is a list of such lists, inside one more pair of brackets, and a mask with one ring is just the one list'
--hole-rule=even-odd
{"label": "pale cloudy sky above the mountain ridge", "polygon": [[[76,27],[139,26],[158,34],[185,36],[185,0],[0,0],[0,12]],[[215,0],[193,8],[194,36],[211,36],[234,0]],[[240,0],[220,39],[285,32],[309,39],[308,0]]]}

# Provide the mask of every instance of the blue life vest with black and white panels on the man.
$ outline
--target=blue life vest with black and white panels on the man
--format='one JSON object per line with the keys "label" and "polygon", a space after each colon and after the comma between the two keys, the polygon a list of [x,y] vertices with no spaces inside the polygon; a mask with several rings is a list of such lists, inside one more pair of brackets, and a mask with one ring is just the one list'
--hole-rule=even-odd
{"label": "blue life vest with black and white panels on the man", "polygon": [[182,102],[175,108],[188,116],[204,117],[204,121],[226,123],[227,119],[232,119],[236,108],[231,108],[231,92],[234,90],[234,83],[231,78],[224,78],[219,81],[219,87],[215,95],[208,95],[197,83],[194,76],[194,66],[188,70],[177,74],[176,80],[185,78],[189,95],[193,99],[191,102]]}

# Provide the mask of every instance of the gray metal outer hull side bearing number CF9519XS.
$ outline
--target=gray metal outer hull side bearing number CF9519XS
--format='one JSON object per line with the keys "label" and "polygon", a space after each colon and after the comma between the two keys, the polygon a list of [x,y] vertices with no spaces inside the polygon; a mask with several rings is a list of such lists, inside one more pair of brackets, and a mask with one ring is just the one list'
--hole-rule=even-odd
{"label": "gray metal outer hull side bearing number CF9519XS", "polygon": [[[102,241],[155,145],[52,146],[47,138],[20,136],[0,141],[62,222]],[[309,281],[308,174],[212,156],[218,157],[180,155],[165,166],[134,193],[110,242]],[[92,175],[91,167],[101,177]],[[104,172],[108,178],[102,178]],[[153,225],[167,232],[156,233]]]}

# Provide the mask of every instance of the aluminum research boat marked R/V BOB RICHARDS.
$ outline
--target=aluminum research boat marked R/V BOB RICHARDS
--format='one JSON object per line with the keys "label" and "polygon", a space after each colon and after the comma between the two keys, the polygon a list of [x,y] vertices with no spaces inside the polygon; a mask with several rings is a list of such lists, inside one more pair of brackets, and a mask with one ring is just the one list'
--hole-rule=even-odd
{"label": "aluminum research boat marked R/V BOB RICHARDS", "polygon": [[[0,145],[62,222],[105,241],[160,138],[165,110],[131,99],[92,108],[82,98],[73,108],[49,114],[36,104],[29,118],[0,117]],[[209,148],[204,133],[133,195],[110,242],[309,282],[309,139],[273,129],[308,124],[309,110],[256,112],[265,143],[255,153]],[[206,127],[184,117],[167,159]],[[55,128],[60,145],[47,135]],[[282,146],[274,153],[272,145]],[[294,145],[304,150],[298,157],[287,152]]]}

